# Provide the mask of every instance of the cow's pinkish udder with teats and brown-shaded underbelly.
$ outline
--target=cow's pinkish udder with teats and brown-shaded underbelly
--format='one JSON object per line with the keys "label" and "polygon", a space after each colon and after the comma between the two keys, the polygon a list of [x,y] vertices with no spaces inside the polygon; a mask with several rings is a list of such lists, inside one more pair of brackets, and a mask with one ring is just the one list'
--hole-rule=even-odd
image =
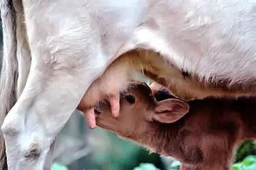
{"label": "cow's pinkish udder with teats and brown-shaded underbelly", "polygon": [[91,129],[96,126],[94,106],[101,99],[106,99],[111,103],[111,112],[114,117],[119,115],[119,90],[123,90],[128,83],[128,78],[135,72],[141,72],[147,78],[166,86],[176,96],[186,101],[203,99],[208,96],[234,98],[255,93],[255,86],[251,81],[249,87],[246,85],[247,82],[230,85],[229,80],[222,80],[221,83],[212,78],[205,80],[205,78],[198,78],[197,75],[177,69],[157,52],[133,50],[113,61],[102,76],[89,86],[81,99],[77,109],[83,112]]}

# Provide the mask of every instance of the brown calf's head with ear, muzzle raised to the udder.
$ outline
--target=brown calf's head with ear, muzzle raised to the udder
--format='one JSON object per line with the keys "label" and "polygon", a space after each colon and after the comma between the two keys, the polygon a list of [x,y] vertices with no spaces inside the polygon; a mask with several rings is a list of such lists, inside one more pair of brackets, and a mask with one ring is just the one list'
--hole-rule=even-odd
{"label": "brown calf's head with ear, muzzle raised to the udder", "polygon": [[98,126],[139,143],[151,133],[152,127],[154,131],[160,131],[161,124],[179,120],[189,109],[186,102],[178,99],[156,101],[150,87],[138,81],[131,82],[121,92],[119,117],[111,116],[111,108],[106,101],[101,101],[99,107]]}

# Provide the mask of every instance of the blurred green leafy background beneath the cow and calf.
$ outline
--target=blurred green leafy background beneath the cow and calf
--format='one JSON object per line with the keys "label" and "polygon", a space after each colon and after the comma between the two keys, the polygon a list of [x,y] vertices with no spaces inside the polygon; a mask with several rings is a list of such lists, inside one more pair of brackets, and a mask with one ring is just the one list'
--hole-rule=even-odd
{"label": "blurred green leafy background beneath the cow and calf", "polygon": [[[0,31],[1,40],[2,37]],[[140,75],[137,77],[150,83]],[[145,148],[119,139],[109,131],[88,129],[83,116],[75,111],[58,135],[52,170],[174,170],[179,167],[177,160],[149,154]],[[244,141],[238,148],[232,168],[256,169],[256,150],[252,141]]]}

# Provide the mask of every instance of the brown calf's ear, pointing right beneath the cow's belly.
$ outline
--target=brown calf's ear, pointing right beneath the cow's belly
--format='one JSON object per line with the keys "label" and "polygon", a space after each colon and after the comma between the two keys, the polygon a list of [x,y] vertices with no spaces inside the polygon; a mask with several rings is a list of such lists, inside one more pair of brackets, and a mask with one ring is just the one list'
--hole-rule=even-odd
{"label": "brown calf's ear, pointing right beneath the cow's belly", "polygon": [[153,118],[158,122],[172,123],[182,118],[188,110],[188,103],[178,99],[166,99],[156,103]]}

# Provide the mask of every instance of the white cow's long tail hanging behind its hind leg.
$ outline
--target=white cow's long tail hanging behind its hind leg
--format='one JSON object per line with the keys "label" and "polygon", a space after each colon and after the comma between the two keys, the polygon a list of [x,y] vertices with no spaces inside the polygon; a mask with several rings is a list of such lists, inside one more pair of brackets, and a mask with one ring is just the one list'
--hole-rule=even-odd
{"label": "white cow's long tail hanging behind its hind leg", "polygon": [[[16,58],[16,12],[12,0],[0,1],[3,31],[3,61],[0,75],[0,125],[16,103],[18,61]],[[0,133],[0,169],[7,170],[5,141]]]}

